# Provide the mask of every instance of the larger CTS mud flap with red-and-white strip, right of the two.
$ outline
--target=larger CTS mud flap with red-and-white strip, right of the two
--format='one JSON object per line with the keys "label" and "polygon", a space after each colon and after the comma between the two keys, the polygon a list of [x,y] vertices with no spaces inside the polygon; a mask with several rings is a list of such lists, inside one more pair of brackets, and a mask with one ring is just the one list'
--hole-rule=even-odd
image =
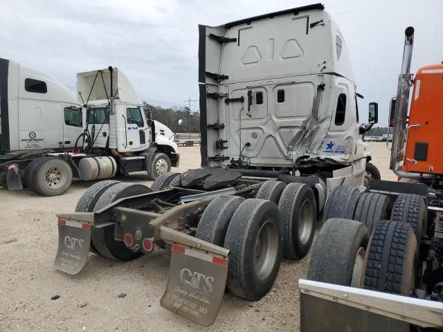
{"label": "larger CTS mud flap with red-and-white strip, right of the two", "polygon": [[160,304],[209,326],[219,313],[227,275],[228,259],[173,245],[168,286]]}

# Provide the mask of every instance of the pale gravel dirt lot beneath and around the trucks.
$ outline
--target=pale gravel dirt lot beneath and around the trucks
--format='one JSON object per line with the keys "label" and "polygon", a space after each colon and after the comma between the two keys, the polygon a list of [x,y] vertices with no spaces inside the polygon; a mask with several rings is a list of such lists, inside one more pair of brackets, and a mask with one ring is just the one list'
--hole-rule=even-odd
{"label": "pale gravel dirt lot beneath and around the trucks", "polygon": [[[370,148],[382,178],[395,180],[383,143]],[[179,172],[199,167],[199,147],[180,149]],[[150,185],[143,176],[125,181]],[[127,263],[91,254],[75,276],[56,270],[55,213],[72,212],[91,184],[75,181],[57,197],[0,188],[0,331],[298,331],[297,282],[307,274],[309,257],[283,261],[272,291],[258,302],[226,294],[208,328],[161,308],[169,269],[161,249]],[[127,296],[118,297],[122,293]]]}

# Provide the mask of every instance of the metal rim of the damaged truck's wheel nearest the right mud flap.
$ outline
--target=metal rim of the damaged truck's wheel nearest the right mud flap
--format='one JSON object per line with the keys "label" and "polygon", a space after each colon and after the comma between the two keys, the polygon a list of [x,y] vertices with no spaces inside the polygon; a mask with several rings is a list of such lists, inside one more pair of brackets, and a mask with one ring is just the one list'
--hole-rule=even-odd
{"label": "metal rim of the damaged truck's wheel nearest the right mud flap", "polygon": [[265,221],[255,239],[254,268],[258,279],[266,279],[278,255],[278,231],[272,221]]}

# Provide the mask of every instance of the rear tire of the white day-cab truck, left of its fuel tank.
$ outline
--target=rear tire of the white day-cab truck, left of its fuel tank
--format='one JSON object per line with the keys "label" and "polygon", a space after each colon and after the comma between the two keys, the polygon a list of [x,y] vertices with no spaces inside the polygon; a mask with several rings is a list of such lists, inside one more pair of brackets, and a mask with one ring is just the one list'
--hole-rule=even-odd
{"label": "rear tire of the white day-cab truck, left of its fuel tank", "polygon": [[[61,187],[51,187],[46,185],[44,175],[50,167],[59,167],[66,174],[66,179]],[[28,187],[42,196],[58,196],[66,192],[72,183],[71,166],[58,157],[44,157],[36,161],[30,168],[30,172],[26,172],[26,183],[30,183]]]}

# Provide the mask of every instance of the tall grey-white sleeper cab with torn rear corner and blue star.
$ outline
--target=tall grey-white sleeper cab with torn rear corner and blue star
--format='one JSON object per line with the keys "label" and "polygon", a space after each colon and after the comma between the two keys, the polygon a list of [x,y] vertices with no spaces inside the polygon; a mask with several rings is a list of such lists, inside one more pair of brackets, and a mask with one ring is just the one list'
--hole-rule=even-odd
{"label": "tall grey-white sleeper cab with torn rear corner and blue star", "polygon": [[363,185],[370,157],[350,56],[323,9],[199,26],[203,166],[297,169]]}

